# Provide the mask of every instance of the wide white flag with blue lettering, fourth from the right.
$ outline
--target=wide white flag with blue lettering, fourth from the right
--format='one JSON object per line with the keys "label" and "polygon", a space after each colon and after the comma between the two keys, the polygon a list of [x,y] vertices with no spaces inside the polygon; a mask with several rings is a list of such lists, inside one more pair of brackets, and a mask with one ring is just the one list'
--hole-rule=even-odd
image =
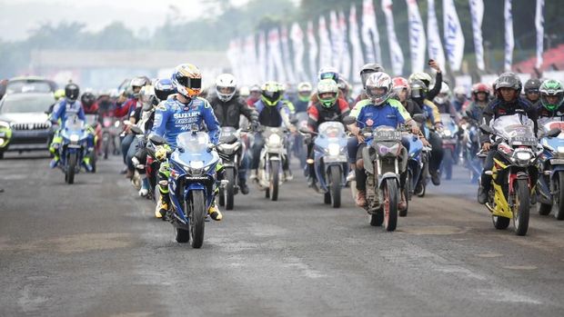
{"label": "wide white flag with blue lettering, fourth from the right", "polygon": [[447,51],[450,70],[458,72],[464,56],[464,35],[453,0],[443,0],[443,24],[445,28],[445,50]]}

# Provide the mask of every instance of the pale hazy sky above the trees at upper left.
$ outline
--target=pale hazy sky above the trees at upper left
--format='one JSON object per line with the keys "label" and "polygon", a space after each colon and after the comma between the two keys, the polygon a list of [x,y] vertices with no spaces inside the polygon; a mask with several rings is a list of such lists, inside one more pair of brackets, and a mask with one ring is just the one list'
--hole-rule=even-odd
{"label": "pale hazy sky above the trees at upper left", "polygon": [[[248,0],[230,0],[245,5]],[[266,0],[267,1],[267,0]],[[86,29],[97,31],[118,20],[138,32],[142,27],[153,30],[165,22],[176,6],[178,14],[193,20],[204,12],[203,3],[210,0],[0,0],[0,38],[21,40],[28,31],[45,22],[79,21]]]}

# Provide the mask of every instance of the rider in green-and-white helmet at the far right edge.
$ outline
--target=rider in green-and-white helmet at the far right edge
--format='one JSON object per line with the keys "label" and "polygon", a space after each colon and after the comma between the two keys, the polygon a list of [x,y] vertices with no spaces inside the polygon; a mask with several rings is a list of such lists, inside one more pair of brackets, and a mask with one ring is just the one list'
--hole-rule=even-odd
{"label": "rider in green-and-white helmet at the far right edge", "polygon": [[558,118],[564,121],[564,87],[556,79],[547,79],[539,87],[540,107],[538,108],[539,125]]}

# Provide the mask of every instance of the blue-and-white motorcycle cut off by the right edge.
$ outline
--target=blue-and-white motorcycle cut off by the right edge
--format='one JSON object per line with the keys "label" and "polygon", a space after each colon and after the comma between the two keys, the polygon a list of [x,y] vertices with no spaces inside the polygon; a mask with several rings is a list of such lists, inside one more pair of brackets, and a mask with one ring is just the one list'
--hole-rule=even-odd
{"label": "blue-and-white motorcycle cut off by the right edge", "polygon": [[[539,157],[539,181],[537,182],[539,197],[539,214],[548,215],[553,205],[558,209],[556,219],[564,220],[564,134],[556,131],[564,130],[564,122],[553,121],[543,124],[540,144],[543,152]],[[550,134],[550,131],[554,131]]]}

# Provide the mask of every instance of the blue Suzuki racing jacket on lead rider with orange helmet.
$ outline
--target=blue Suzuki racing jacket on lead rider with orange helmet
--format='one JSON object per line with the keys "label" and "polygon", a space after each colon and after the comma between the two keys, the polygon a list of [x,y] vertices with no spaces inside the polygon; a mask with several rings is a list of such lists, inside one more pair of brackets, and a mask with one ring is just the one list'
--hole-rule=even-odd
{"label": "blue Suzuki racing jacket on lead rider with orange helmet", "polygon": [[189,104],[182,104],[176,97],[170,98],[156,107],[152,133],[164,136],[168,144],[176,147],[178,134],[190,131],[193,124],[201,127],[202,122],[206,124],[210,142],[217,144],[219,123],[206,99],[196,97]]}

